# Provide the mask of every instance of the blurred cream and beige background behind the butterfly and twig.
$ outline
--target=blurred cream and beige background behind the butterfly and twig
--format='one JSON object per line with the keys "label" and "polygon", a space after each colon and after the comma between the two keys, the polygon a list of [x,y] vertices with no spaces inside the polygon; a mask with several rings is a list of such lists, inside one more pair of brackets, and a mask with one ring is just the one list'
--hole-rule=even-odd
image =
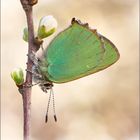
{"label": "blurred cream and beige background behind the butterfly and twig", "polygon": [[[22,140],[22,98],[10,72],[26,68],[26,19],[20,0],[3,0],[1,8],[1,139]],[[31,140],[138,140],[138,9],[138,0],[40,0],[34,6],[35,28],[42,16],[53,15],[56,35],[76,17],[108,37],[121,57],[104,71],[55,84],[57,123],[51,107],[44,123],[48,95],[33,87]]]}

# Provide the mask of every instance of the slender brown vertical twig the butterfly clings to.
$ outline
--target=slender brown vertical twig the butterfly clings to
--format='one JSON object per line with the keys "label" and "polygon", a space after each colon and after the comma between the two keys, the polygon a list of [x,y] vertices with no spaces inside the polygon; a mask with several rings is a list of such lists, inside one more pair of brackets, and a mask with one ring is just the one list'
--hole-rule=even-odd
{"label": "slender brown vertical twig the butterfly clings to", "polygon": [[[28,60],[27,69],[32,71],[33,63],[29,59],[29,54],[32,51],[36,52],[39,47],[34,43],[34,26],[33,26],[33,15],[32,6],[37,3],[37,0],[20,0],[23,9],[26,13],[27,25],[28,25]],[[32,85],[32,73],[26,73],[26,81],[22,86],[22,99],[23,99],[23,112],[24,112],[24,140],[30,139],[30,126],[31,126],[31,87]],[[19,89],[20,90],[20,89]]]}

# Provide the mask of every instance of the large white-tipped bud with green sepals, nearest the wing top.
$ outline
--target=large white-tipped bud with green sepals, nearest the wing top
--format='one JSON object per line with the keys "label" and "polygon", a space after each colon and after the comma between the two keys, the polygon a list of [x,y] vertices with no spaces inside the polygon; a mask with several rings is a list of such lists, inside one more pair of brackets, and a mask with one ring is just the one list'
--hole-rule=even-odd
{"label": "large white-tipped bud with green sepals, nearest the wing top", "polygon": [[46,38],[53,34],[56,31],[56,28],[56,19],[53,16],[45,16],[40,20],[37,36],[40,39]]}

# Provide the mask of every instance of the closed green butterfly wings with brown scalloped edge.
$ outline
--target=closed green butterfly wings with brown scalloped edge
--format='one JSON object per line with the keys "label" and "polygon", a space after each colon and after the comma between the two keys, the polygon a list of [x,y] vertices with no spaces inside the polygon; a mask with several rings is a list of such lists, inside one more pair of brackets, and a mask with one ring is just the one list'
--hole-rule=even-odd
{"label": "closed green butterfly wings with brown scalloped edge", "polygon": [[40,69],[50,81],[64,83],[105,69],[118,58],[116,47],[107,38],[73,19],[46,49]]}

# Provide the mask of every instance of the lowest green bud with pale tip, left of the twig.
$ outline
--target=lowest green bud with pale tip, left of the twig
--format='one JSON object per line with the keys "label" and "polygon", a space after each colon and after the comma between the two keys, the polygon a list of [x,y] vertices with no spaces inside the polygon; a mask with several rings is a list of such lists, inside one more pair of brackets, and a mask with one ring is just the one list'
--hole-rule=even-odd
{"label": "lowest green bud with pale tip, left of the twig", "polygon": [[15,81],[16,85],[22,85],[24,83],[24,73],[21,68],[16,68],[11,72],[11,77]]}

